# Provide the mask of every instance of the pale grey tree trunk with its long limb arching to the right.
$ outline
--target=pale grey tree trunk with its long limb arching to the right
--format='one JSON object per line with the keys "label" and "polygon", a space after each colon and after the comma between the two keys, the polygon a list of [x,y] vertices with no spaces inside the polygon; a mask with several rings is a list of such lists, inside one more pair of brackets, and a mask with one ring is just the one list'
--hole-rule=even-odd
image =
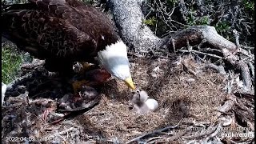
{"label": "pale grey tree trunk with its long limb arching to the right", "polygon": [[[242,79],[246,88],[251,88],[250,70],[243,62],[243,58],[238,56],[244,54],[254,62],[254,54],[248,54],[242,50],[239,43],[230,42],[217,33],[213,26],[190,26],[185,30],[178,31],[166,38],[158,38],[148,26],[143,24],[144,15],[142,14],[143,0],[109,0],[108,4],[114,22],[118,28],[118,33],[122,40],[126,42],[130,50],[136,53],[149,52],[154,50],[178,51],[182,47],[198,45],[202,42],[210,47],[222,52],[226,65],[232,65],[241,70]],[[186,50],[189,51],[189,50]],[[202,53],[201,53],[202,54]],[[209,54],[210,55],[210,54]],[[217,56],[219,58],[219,56]]]}

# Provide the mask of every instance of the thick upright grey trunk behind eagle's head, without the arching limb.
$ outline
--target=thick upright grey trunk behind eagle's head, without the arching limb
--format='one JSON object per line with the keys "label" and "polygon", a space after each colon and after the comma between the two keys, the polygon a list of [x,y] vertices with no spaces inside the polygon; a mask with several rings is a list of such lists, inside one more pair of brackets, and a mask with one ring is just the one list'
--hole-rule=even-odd
{"label": "thick upright grey trunk behind eagle's head, without the arching limb", "polygon": [[142,1],[138,0],[109,1],[110,10],[122,40],[136,52],[154,49],[162,44],[162,39],[143,24],[144,15],[141,4]]}

